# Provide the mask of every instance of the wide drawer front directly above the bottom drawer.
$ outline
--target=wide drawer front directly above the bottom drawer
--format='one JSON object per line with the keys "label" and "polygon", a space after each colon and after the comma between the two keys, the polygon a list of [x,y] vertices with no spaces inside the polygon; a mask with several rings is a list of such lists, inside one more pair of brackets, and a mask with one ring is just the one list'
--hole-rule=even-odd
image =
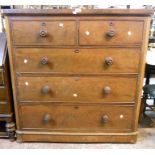
{"label": "wide drawer front directly above the bottom drawer", "polygon": [[20,101],[133,102],[136,78],[19,77]]}

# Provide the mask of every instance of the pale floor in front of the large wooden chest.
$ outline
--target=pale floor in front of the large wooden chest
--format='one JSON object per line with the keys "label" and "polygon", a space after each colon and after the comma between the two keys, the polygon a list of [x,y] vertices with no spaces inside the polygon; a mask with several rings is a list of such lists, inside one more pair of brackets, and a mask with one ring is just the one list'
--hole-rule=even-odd
{"label": "pale floor in front of the large wooden chest", "polygon": [[155,149],[155,128],[140,128],[136,144],[17,143],[0,139],[0,149]]}

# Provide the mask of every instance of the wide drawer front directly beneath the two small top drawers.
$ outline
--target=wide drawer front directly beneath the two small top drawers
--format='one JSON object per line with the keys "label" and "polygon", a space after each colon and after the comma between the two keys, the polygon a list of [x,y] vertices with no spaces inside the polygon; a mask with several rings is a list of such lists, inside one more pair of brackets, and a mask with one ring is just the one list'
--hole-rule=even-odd
{"label": "wide drawer front directly beneath the two small top drawers", "polygon": [[139,48],[17,48],[17,72],[137,73]]}

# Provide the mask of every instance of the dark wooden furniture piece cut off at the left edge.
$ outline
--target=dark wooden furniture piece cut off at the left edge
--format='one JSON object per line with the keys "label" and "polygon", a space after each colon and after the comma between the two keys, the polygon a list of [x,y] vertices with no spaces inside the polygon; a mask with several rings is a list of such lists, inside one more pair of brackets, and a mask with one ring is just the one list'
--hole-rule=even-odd
{"label": "dark wooden furniture piece cut off at the left edge", "polygon": [[14,139],[13,98],[5,33],[0,33],[0,137]]}

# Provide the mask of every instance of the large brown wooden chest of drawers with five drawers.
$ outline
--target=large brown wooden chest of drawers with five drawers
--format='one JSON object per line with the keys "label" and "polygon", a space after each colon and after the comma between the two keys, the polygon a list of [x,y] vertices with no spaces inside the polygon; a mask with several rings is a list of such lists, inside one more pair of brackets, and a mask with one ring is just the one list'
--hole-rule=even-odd
{"label": "large brown wooden chest of drawers with five drawers", "polygon": [[5,10],[18,141],[130,142],[151,10]]}

